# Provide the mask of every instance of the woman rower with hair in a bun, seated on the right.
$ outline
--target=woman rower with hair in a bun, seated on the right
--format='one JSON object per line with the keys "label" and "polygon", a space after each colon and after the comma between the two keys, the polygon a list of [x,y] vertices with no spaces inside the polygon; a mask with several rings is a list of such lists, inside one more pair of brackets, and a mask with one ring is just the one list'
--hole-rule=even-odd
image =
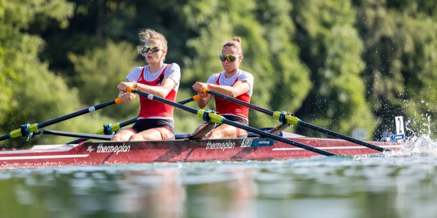
{"label": "woman rower with hair in a bun, seated on the right", "polygon": [[[197,91],[201,96],[201,99],[197,101],[199,107],[204,108],[211,99],[210,94],[202,93],[202,88],[250,103],[253,88],[253,76],[249,72],[238,69],[243,60],[241,38],[235,36],[231,41],[225,43],[219,58],[224,71],[211,75],[206,83],[196,82],[193,85],[193,90]],[[249,109],[247,107],[237,105],[218,97],[215,97],[215,101],[216,110],[220,115],[242,125],[249,125]],[[198,129],[203,125],[206,124],[202,124]],[[246,134],[246,130],[222,124],[214,128],[205,136],[205,138],[235,138]]]}

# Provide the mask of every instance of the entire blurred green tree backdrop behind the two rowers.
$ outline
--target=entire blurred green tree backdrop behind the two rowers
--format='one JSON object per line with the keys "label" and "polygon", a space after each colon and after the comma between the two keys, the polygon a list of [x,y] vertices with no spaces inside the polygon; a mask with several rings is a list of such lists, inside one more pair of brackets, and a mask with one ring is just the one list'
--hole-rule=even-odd
{"label": "entire blurred green tree backdrop behind the two rowers", "polygon": [[[0,0],[0,135],[116,98],[117,84],[146,64],[136,53],[145,28],[167,37],[166,62],[181,66],[178,101],[222,70],[222,44],[238,35],[253,104],[365,139],[394,132],[394,116],[437,135],[435,0]],[[137,99],[47,128],[93,132],[136,117]],[[175,121],[177,132],[201,122],[178,109]],[[252,126],[276,124],[250,113]]]}

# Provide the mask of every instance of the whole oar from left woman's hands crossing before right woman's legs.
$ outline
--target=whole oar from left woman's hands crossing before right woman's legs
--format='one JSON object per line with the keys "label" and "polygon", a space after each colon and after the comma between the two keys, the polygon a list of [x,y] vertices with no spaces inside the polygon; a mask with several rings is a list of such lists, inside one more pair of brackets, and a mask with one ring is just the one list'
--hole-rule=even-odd
{"label": "whole oar from left woman's hands crossing before right woman's legs", "polygon": [[293,141],[293,140],[289,140],[289,139],[286,139],[286,138],[283,138],[283,137],[280,137],[280,136],[277,136],[277,135],[273,135],[273,134],[264,132],[262,130],[259,130],[257,128],[253,128],[251,126],[241,125],[241,124],[236,123],[234,121],[230,121],[230,120],[228,120],[228,119],[226,119],[223,116],[220,116],[218,114],[210,113],[210,111],[207,111],[207,110],[193,109],[193,108],[187,107],[185,105],[181,105],[179,103],[172,102],[172,101],[169,101],[167,99],[154,96],[152,94],[140,92],[140,91],[135,90],[135,89],[133,89],[131,87],[128,87],[126,89],[126,91],[127,92],[131,92],[131,93],[137,93],[137,94],[142,95],[144,97],[147,97],[147,98],[149,98],[151,100],[155,100],[155,101],[158,101],[158,102],[161,102],[161,103],[164,103],[164,104],[171,105],[171,106],[173,106],[175,108],[183,109],[183,110],[188,111],[190,113],[197,114],[197,116],[200,117],[200,118],[203,118],[204,121],[211,121],[211,122],[214,122],[214,123],[217,123],[217,124],[232,125],[232,126],[235,126],[237,128],[244,129],[244,130],[247,130],[249,132],[253,132],[253,133],[259,134],[261,136],[267,137],[267,138],[278,140],[278,141],[281,141],[281,142],[284,142],[284,143],[287,143],[287,144],[294,145],[294,146],[299,147],[299,148],[303,148],[303,149],[308,150],[308,151],[312,151],[312,152],[318,153],[320,155],[335,156],[335,154],[333,154],[333,153],[330,153],[330,152],[327,152],[327,151],[323,151],[323,150],[320,150],[320,149],[317,149],[317,148],[314,148],[314,147],[311,147],[311,146],[299,143],[297,141]]}

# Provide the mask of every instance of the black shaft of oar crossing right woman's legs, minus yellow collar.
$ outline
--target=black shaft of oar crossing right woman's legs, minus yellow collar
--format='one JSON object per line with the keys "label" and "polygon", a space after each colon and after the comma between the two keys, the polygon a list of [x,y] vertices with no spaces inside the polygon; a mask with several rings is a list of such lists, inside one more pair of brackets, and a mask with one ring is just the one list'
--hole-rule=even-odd
{"label": "black shaft of oar crossing right woman's legs, minus yellow collar", "polygon": [[[185,105],[181,105],[181,104],[178,104],[176,102],[172,102],[172,101],[169,101],[167,99],[154,96],[152,94],[140,92],[140,91],[134,90],[132,88],[128,88],[127,91],[128,92],[132,92],[132,93],[137,93],[137,94],[142,95],[144,97],[147,97],[147,98],[149,98],[151,100],[155,100],[155,101],[158,101],[158,102],[161,102],[161,103],[164,103],[164,104],[168,104],[168,105],[171,105],[171,106],[173,106],[175,108],[183,109],[183,110],[188,111],[190,113],[194,113],[194,114],[199,115],[198,113],[199,113],[200,110],[193,109],[193,108],[187,107]],[[219,116],[219,115],[216,115],[216,116]],[[300,147],[300,148],[303,148],[305,150],[318,153],[320,155],[335,156],[335,154],[333,154],[333,153],[326,152],[326,151],[323,151],[323,150],[320,150],[320,149],[317,149],[317,148],[314,148],[314,147],[311,147],[311,146],[308,146],[308,145],[305,145],[305,144],[302,144],[302,143],[299,143],[299,142],[296,142],[296,141],[293,141],[293,140],[289,140],[289,139],[286,139],[286,138],[283,138],[283,137],[280,137],[280,136],[272,135],[272,134],[266,133],[266,132],[264,132],[262,130],[259,130],[259,129],[256,129],[256,128],[253,128],[253,127],[250,127],[250,126],[241,125],[241,124],[238,124],[236,122],[227,120],[224,117],[221,119],[221,122],[223,124],[232,125],[232,126],[235,126],[237,128],[245,129],[247,131],[254,132],[254,133],[257,133],[259,135],[262,135],[262,136],[265,136],[265,137],[268,137],[268,138],[271,138],[271,139],[274,139],[274,140],[278,140],[278,141],[281,141],[281,142],[284,142],[284,143],[287,143],[287,144],[291,144],[291,145],[294,145],[296,147]]]}

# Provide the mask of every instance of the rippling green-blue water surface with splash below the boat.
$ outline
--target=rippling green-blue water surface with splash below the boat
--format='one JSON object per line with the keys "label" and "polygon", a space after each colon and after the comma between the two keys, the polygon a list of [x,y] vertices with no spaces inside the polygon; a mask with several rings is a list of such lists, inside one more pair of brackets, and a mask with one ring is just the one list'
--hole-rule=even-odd
{"label": "rippling green-blue water surface with splash below the boat", "polygon": [[0,170],[1,218],[434,218],[437,142],[354,160]]}

